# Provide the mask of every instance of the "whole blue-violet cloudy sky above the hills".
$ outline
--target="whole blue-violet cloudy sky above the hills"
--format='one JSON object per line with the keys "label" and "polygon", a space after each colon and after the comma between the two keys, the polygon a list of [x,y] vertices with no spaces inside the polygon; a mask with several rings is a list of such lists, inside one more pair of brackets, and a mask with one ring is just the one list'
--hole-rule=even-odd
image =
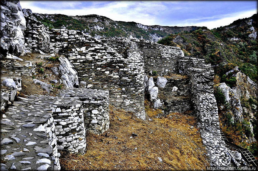
{"label": "whole blue-violet cloudy sky above the hills", "polygon": [[257,13],[257,1],[20,1],[33,13],[97,14],[115,21],[143,25],[206,26],[228,25]]}

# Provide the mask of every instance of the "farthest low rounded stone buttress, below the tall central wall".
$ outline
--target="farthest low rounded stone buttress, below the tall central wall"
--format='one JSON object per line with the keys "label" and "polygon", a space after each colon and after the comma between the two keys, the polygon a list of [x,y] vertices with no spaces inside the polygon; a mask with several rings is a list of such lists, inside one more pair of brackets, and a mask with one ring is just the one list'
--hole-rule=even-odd
{"label": "farthest low rounded stone buttress, below the tall central wall", "polygon": [[61,97],[78,97],[83,105],[85,130],[102,134],[109,128],[108,91],[97,89],[70,89],[59,94]]}

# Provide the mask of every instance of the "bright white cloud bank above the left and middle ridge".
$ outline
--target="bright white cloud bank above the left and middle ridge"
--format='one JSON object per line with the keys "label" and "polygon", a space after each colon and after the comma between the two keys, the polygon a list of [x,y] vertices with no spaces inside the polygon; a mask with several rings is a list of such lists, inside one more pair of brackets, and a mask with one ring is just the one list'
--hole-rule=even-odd
{"label": "bright white cloud bank above the left and middle ridge", "polygon": [[[40,1],[39,1],[40,2]],[[103,1],[102,1],[103,2]],[[145,25],[154,25],[155,18],[150,16],[148,13],[143,13],[145,8],[150,8],[152,10],[159,9],[162,5],[152,4],[152,3],[142,3],[136,5],[136,8],[128,10],[130,5],[135,5],[132,1],[118,1],[114,3],[109,3],[104,7],[96,7],[94,4],[90,7],[83,7],[81,9],[44,9],[37,7],[33,4],[33,1],[20,1],[22,8],[31,9],[33,13],[42,14],[65,14],[65,15],[89,15],[97,14],[108,17],[115,21],[135,21]],[[67,2],[68,3],[68,2]],[[144,5],[144,6],[142,6]],[[67,5],[69,6],[69,5]],[[138,7],[137,7],[138,6]],[[163,6],[164,7],[164,6]]]}

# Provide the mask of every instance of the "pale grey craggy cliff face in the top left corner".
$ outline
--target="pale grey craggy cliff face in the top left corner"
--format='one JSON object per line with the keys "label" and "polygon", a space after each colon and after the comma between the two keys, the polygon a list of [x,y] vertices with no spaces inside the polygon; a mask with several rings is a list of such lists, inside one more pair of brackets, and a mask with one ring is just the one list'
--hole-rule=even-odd
{"label": "pale grey craggy cliff face in the top left corner", "polygon": [[26,21],[19,1],[1,1],[1,58],[23,52]]}

